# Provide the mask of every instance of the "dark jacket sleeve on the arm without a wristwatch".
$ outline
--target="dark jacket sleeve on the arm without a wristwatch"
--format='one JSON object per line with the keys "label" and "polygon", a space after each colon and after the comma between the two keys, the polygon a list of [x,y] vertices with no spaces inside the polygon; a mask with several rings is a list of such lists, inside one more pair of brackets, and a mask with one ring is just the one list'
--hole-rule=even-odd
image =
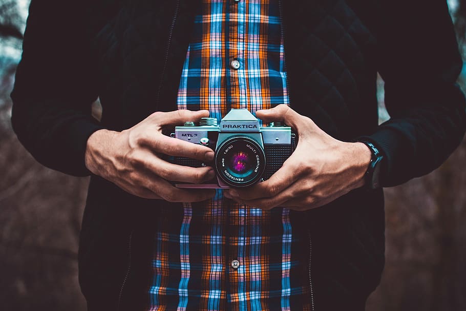
{"label": "dark jacket sleeve on the arm without a wristwatch", "polygon": [[32,0],[16,70],[12,125],[40,163],[75,176],[89,175],[89,136],[102,129],[91,116],[96,72],[86,7],[68,0]]}

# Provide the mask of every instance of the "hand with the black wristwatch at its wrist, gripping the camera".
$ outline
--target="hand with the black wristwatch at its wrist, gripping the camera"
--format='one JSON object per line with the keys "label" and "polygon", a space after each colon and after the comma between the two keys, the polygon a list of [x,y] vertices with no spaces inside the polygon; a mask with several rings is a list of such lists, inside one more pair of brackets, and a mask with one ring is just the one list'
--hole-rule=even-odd
{"label": "hand with the black wristwatch at its wrist, gripping the camera", "polygon": [[364,143],[337,140],[286,105],[259,110],[256,116],[264,122],[284,121],[298,134],[298,146],[268,180],[228,189],[226,197],[266,210],[283,206],[304,211],[364,185],[371,159]]}

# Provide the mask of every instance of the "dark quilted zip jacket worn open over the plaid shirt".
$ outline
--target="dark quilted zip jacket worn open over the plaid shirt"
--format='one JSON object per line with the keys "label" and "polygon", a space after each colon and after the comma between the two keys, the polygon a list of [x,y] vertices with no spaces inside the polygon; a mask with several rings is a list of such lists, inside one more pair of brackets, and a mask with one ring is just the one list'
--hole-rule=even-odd
{"label": "dark quilted zip jacket worn open over the plaid shirt", "polygon": [[[76,176],[87,138],[176,107],[200,0],[32,0],[12,123],[44,165]],[[446,1],[281,0],[291,107],[341,140],[382,150],[384,186],[437,168],[465,130],[462,63]],[[391,119],[377,125],[376,76]],[[100,122],[90,115],[100,97]],[[142,309],[157,206],[92,176],[79,274],[91,310]],[[174,211],[179,205],[172,204]],[[315,310],[363,309],[384,266],[381,190],[293,213],[309,241]],[[307,238],[304,239],[307,241]],[[306,269],[307,270],[307,269]],[[303,273],[308,273],[303,272]]]}

